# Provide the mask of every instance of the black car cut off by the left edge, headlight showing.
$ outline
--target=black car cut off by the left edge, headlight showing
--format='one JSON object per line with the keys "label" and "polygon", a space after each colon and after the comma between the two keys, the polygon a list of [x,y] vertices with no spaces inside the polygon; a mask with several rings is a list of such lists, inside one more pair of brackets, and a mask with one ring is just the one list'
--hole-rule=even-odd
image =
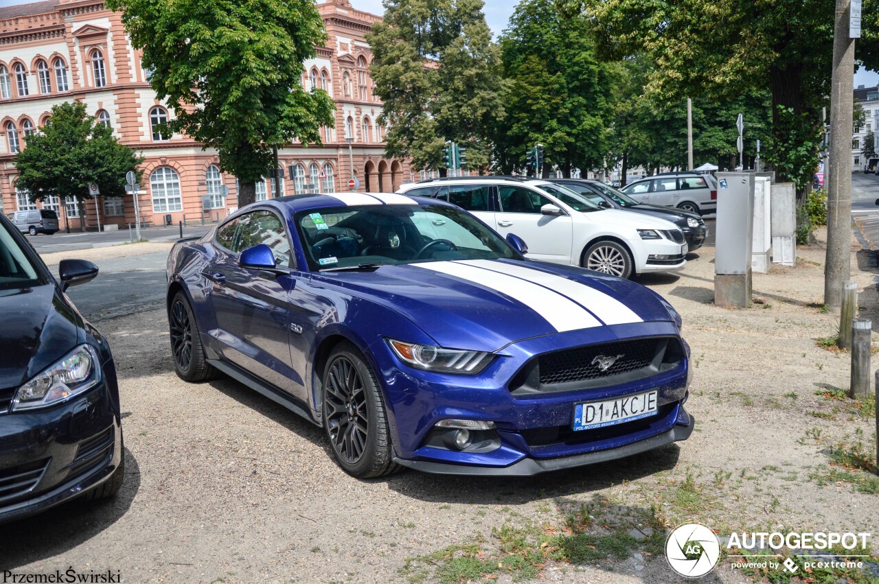
{"label": "black car cut off by the left edge, headlight showing", "polygon": [[0,216],[0,523],[110,497],[125,472],[113,357],[64,293],[98,268],[69,259],[59,273]]}

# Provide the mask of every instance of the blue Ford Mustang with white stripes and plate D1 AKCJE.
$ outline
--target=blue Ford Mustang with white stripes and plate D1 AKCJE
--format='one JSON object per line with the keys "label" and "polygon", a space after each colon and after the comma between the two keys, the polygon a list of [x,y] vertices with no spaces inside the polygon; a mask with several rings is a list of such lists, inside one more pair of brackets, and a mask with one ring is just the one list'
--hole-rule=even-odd
{"label": "blue Ford Mustang with white stripes and plate D1 AKCJE", "polygon": [[175,367],[226,373],[323,426],[361,478],[532,475],[686,439],[672,306],[525,253],[436,199],[248,205],[171,251]]}

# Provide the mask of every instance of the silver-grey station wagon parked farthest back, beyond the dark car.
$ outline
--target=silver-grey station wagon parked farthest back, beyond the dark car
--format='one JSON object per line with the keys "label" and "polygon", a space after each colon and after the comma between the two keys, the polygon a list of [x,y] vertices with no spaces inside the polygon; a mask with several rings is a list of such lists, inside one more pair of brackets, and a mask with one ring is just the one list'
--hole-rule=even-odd
{"label": "silver-grey station wagon parked farthest back, beyond the dark car", "polygon": [[711,175],[663,173],[636,180],[620,190],[646,205],[677,207],[701,215],[717,211],[717,183]]}

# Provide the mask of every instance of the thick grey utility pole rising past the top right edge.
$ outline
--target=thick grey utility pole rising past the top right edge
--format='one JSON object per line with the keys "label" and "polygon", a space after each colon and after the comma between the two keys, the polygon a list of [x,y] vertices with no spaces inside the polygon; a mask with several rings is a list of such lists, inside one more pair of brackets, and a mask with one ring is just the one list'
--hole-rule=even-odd
{"label": "thick grey utility pole rising past the top right edge", "polygon": [[[852,4],[858,22],[851,26]],[[830,103],[830,184],[827,184],[825,304],[842,305],[842,285],[852,270],[852,109],[854,36],[861,36],[861,0],[836,0]]]}

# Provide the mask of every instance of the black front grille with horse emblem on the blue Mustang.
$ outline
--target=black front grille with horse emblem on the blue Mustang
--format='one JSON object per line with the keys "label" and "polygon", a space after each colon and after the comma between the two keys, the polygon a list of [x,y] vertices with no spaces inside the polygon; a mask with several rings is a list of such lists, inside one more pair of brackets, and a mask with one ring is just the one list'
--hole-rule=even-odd
{"label": "black front grille with horse emblem on the blue Mustang", "polygon": [[[510,382],[514,395],[575,391],[635,381],[672,369],[684,359],[677,337],[604,342],[534,357]],[[602,371],[601,364],[608,364]]]}

